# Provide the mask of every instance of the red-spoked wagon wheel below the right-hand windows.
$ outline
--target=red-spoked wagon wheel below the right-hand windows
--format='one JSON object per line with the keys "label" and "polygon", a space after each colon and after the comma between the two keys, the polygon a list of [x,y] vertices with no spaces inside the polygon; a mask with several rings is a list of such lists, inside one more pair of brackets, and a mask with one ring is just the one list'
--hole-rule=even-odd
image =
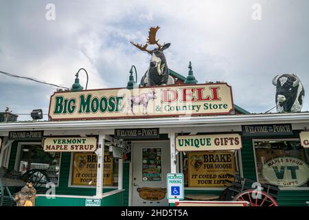
{"label": "red-spoked wagon wheel below the right-hand windows", "polygon": [[[255,195],[255,198],[253,198],[253,195]],[[248,201],[250,206],[278,206],[275,199],[266,192],[259,192],[253,189],[238,193],[233,201]]]}

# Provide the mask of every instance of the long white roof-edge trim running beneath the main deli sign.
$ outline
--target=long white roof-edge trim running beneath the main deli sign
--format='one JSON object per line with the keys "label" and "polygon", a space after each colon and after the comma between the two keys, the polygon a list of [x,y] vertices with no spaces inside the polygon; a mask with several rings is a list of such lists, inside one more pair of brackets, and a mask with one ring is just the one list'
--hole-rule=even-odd
{"label": "long white roof-edge trim running beneath the main deli sign", "polygon": [[268,113],[251,115],[208,115],[198,117],[170,118],[135,118],[115,120],[76,120],[76,121],[38,121],[1,123],[0,131],[17,130],[80,130],[80,129],[120,129],[135,127],[192,127],[192,126],[227,126],[246,124],[273,123],[309,123],[309,112],[303,113]]}

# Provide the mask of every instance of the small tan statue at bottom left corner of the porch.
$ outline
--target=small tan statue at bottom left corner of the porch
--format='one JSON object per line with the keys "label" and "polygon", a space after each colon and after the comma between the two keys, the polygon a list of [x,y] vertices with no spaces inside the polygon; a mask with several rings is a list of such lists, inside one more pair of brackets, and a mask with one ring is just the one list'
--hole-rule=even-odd
{"label": "small tan statue at bottom left corner of the porch", "polygon": [[32,183],[27,183],[20,192],[14,196],[17,206],[35,206],[36,202],[36,189]]}

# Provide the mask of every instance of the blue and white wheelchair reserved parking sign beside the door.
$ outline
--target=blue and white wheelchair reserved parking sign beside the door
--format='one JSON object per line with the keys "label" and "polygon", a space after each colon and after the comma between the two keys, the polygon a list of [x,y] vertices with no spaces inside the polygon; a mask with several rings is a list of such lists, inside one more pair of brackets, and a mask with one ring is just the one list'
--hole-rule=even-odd
{"label": "blue and white wheelchair reserved parking sign beside the door", "polygon": [[168,199],[184,199],[183,173],[168,173]]}

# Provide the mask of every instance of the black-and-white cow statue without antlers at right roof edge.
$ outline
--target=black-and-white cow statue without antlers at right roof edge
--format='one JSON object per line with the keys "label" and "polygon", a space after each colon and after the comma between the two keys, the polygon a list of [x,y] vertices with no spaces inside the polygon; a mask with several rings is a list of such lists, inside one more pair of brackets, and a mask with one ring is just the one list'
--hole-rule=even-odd
{"label": "black-and-white cow statue without antlers at right roof edge", "polygon": [[278,113],[300,112],[305,96],[304,86],[295,74],[282,74],[273,78],[277,88],[275,102]]}

